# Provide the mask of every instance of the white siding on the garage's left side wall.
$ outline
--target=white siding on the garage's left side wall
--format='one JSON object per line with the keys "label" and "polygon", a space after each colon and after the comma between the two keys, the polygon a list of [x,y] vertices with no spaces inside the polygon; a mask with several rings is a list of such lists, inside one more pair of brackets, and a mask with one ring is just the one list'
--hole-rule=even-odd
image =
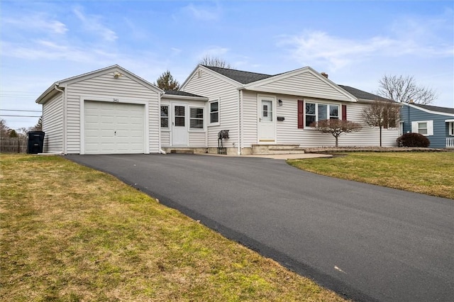
{"label": "white siding on the garage's left side wall", "polygon": [[43,104],[43,152],[63,152],[63,94]]}

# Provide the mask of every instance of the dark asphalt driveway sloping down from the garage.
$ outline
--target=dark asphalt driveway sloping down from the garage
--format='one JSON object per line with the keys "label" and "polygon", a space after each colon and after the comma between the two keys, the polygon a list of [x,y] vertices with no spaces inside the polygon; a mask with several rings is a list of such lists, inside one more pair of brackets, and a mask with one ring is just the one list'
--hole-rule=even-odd
{"label": "dark asphalt driveway sloping down from the garage", "polygon": [[323,177],[265,158],[67,158],[113,174],[348,298],[453,301],[451,199]]}

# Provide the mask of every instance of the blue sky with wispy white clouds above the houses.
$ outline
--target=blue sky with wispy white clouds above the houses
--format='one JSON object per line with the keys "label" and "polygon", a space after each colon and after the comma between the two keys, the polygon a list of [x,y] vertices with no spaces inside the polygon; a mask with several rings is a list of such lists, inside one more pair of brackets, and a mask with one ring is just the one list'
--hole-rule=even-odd
{"label": "blue sky with wispy white clouds above the houses", "polygon": [[[414,76],[454,107],[454,1],[1,0],[0,108],[36,110],[52,83],[110,65],[180,82],[205,55],[264,74],[310,66],[377,91]],[[39,116],[39,112],[1,111]],[[10,128],[38,118],[4,117]]]}

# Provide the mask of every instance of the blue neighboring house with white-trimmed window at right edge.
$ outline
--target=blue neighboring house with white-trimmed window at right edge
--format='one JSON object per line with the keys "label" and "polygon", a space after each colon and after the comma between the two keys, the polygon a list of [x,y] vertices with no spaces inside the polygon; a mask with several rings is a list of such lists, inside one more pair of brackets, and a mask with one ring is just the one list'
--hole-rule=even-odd
{"label": "blue neighboring house with white-trimmed window at right edge", "polygon": [[454,108],[404,103],[400,123],[401,133],[421,133],[430,147],[454,147]]}

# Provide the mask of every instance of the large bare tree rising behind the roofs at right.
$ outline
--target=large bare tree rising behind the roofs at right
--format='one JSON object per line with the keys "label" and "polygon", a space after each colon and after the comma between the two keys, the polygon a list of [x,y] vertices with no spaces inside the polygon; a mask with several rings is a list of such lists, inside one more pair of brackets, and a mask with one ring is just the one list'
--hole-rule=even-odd
{"label": "large bare tree rising behind the roofs at right", "polygon": [[399,103],[431,104],[437,97],[436,91],[416,84],[414,77],[384,75],[379,81],[377,94]]}

